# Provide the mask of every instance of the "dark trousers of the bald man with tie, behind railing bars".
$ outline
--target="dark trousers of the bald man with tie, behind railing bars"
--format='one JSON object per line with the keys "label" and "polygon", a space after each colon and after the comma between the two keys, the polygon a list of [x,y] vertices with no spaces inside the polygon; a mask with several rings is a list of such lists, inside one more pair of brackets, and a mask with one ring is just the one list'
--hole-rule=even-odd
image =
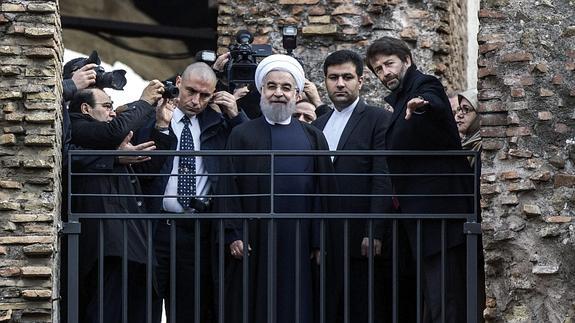
{"label": "dark trousers of the bald man with tie, behind railing bars", "polygon": [[211,273],[210,223],[203,221],[200,225],[200,266],[195,261],[195,228],[193,220],[176,221],[176,268],[175,294],[171,299],[170,292],[170,237],[172,224],[160,221],[155,235],[155,251],[157,258],[156,280],[159,298],[154,302],[154,322],[161,321],[162,299],[166,303],[168,322],[171,319],[170,308],[175,301],[176,322],[193,322],[195,308],[195,270],[200,270],[200,321],[214,321],[213,281]]}

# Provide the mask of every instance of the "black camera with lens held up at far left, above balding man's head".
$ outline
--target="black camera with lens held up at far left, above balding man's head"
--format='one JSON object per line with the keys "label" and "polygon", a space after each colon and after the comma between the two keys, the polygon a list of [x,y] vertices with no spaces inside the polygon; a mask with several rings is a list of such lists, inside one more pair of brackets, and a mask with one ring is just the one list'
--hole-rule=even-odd
{"label": "black camera with lens held up at far left, above balding man's head", "polygon": [[98,52],[93,51],[87,58],[76,58],[64,65],[64,79],[71,78],[72,73],[82,66],[88,64],[96,64],[94,71],[96,71],[96,84],[95,86],[100,89],[111,88],[114,90],[123,90],[124,86],[128,82],[126,80],[126,71],[124,70],[114,70],[111,72],[106,72],[102,66],[102,62],[98,56]]}

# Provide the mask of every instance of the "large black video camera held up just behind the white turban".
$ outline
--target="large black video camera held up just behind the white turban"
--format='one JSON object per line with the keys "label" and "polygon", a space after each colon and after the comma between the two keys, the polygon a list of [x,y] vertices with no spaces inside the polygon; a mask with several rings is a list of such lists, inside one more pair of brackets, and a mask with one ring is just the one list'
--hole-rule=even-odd
{"label": "large black video camera held up just behind the white turban", "polygon": [[258,66],[258,57],[272,54],[271,45],[251,45],[254,36],[247,30],[240,30],[236,34],[237,44],[231,44],[230,61],[227,65],[227,78],[230,90],[242,84],[253,84],[254,75]]}

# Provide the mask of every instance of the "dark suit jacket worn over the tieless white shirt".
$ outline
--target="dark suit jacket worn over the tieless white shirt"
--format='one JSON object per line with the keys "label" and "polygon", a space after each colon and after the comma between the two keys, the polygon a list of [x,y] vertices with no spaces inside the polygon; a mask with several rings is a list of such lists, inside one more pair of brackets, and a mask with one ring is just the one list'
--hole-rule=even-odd
{"label": "dark suit jacket worn over the tieless white shirt", "polygon": [[[333,110],[321,116],[314,125],[324,130]],[[385,132],[391,113],[383,108],[366,105],[359,100],[349,121],[345,125],[337,150],[384,150]],[[387,174],[384,156],[335,156],[333,165],[336,173],[354,173],[356,176],[337,176],[340,194],[391,194],[391,183]],[[367,176],[366,176],[367,175]],[[343,213],[389,213],[391,197],[343,197],[338,212]],[[378,239],[386,238],[381,221],[376,221],[374,235]],[[352,257],[361,255],[361,240],[368,236],[368,222],[350,223],[350,250]],[[343,240],[341,223],[332,231],[334,242]],[[341,243],[340,243],[341,244]],[[341,247],[341,246],[340,246]],[[336,246],[336,248],[339,248]]]}

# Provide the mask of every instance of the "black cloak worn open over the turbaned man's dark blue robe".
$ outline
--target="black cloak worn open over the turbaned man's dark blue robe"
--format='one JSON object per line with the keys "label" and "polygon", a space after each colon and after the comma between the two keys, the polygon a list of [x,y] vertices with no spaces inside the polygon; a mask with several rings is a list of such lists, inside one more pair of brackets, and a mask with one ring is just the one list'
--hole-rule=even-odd
{"label": "black cloak worn open over the turbaned man's dark blue robe", "polygon": [[[300,122],[292,118],[291,122]],[[302,127],[306,136],[309,139],[312,150],[328,150],[328,145],[325,137],[317,128],[302,123]],[[251,120],[242,125],[237,126],[231,133],[227,148],[230,150],[269,150],[271,149],[270,140],[270,127],[265,121],[264,117]],[[313,159],[315,173],[332,173],[333,166],[328,156],[318,156]],[[270,159],[267,156],[249,156],[241,157],[235,156],[230,159],[229,169],[233,172],[241,173],[268,173],[270,171]],[[276,177],[276,180],[281,180]],[[333,193],[336,183],[331,176],[317,176],[315,178],[315,186],[317,193]],[[228,193],[240,194],[269,194],[270,193],[270,178],[267,175],[237,175],[228,178],[224,181],[225,190]],[[266,213],[270,211],[269,197],[245,197],[240,199],[221,199],[219,207],[227,212],[248,212],[248,213],[262,213],[265,217]],[[315,211],[328,212],[331,209],[330,201],[328,198],[316,198]],[[302,221],[303,222],[303,221]],[[319,241],[319,227],[318,221],[313,221],[311,227],[307,226],[311,231],[310,246],[307,250],[318,248]],[[228,221],[226,227],[226,242],[230,243],[238,239],[242,239],[242,225],[241,221]],[[302,228],[305,228],[302,225]],[[302,233],[302,236],[304,234]],[[249,310],[250,322],[265,322],[266,309],[267,309],[267,274],[266,272],[258,272],[257,268],[262,268],[261,264],[266,263],[268,260],[267,252],[265,251],[267,237],[267,222],[260,222],[257,220],[250,221],[249,224],[249,241],[250,245],[254,246],[254,250],[249,257]],[[257,247],[256,247],[257,246]],[[262,248],[263,247],[263,248]],[[258,250],[256,250],[256,248]],[[262,250],[263,249],[263,250]],[[229,249],[226,247],[226,254],[229,254]],[[303,248],[302,248],[303,250]],[[281,257],[282,255],[277,255]],[[308,255],[302,255],[303,259],[309,259]],[[302,266],[312,265],[308,260],[307,263],[302,261]],[[265,268],[265,267],[264,267]],[[230,259],[228,257],[226,264],[226,292],[225,292],[225,305],[226,309],[226,322],[241,322],[242,321],[242,261]],[[295,283],[295,282],[294,282]],[[309,290],[311,286],[302,286],[304,289]],[[311,304],[308,304],[311,305]],[[282,306],[278,304],[277,306]],[[309,306],[308,306],[309,308]],[[293,314],[293,313],[292,313]],[[301,322],[307,322],[303,317],[309,317],[311,313],[301,313]],[[290,318],[278,317],[278,320],[285,322]],[[279,321],[278,321],[279,322]]]}

